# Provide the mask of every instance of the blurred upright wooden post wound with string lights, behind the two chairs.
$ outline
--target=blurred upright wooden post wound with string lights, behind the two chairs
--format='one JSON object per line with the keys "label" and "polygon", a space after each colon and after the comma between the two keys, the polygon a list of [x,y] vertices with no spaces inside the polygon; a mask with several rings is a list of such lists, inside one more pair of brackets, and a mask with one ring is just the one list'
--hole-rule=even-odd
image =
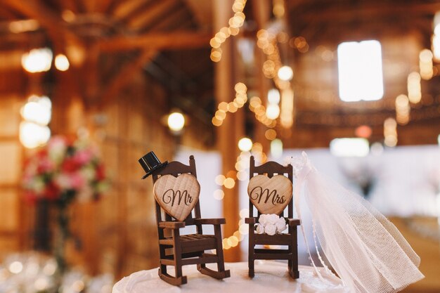
{"label": "blurred upright wooden post wound with string lights, behind the two chairs", "polygon": [[[214,1],[214,33],[221,27],[228,26],[228,20],[233,15],[233,1],[216,0]],[[216,102],[231,102],[235,97],[235,68],[234,61],[237,58],[235,40],[233,37],[221,46],[223,51],[221,61],[215,63],[215,96]],[[217,128],[217,147],[222,155],[222,174],[226,175],[228,171],[235,170],[235,162],[238,156],[237,142],[240,135],[244,132],[244,122],[242,115],[228,113],[221,126]],[[238,230],[238,188],[224,188],[224,217],[226,225],[224,226],[224,238],[231,237],[235,230]],[[225,261],[239,261],[240,247],[233,247],[225,250]]]}

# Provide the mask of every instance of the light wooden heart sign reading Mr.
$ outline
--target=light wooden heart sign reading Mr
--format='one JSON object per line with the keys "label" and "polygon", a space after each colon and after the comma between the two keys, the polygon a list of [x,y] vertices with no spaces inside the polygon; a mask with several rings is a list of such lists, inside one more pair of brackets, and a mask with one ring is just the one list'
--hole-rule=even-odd
{"label": "light wooden heart sign reading Mr", "polygon": [[191,174],[164,175],[155,182],[153,193],[167,214],[184,221],[199,200],[200,184]]}

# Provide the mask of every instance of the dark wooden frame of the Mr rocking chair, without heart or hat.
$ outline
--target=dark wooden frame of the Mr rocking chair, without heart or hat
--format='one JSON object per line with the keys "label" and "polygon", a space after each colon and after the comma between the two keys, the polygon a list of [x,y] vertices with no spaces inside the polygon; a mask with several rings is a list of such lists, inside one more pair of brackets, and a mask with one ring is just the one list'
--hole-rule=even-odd
{"label": "dark wooden frame of the Mr rocking chair, without heart or hat", "polygon": [[[177,177],[180,174],[192,174],[197,178],[194,157],[193,155],[190,156],[189,166],[181,162],[169,162],[167,166],[153,171],[152,174],[153,183],[164,175]],[[162,213],[164,217],[162,217]],[[156,219],[160,252],[158,273],[162,280],[176,286],[186,284],[187,278],[182,275],[182,266],[188,264],[197,264],[200,273],[209,275],[212,278],[223,279],[231,276],[230,271],[224,268],[223,245],[221,242],[221,224],[226,223],[225,219],[201,219],[199,201],[184,221],[174,219],[156,201]],[[214,235],[203,234],[202,225],[207,224],[214,226]],[[186,226],[195,226],[196,233],[180,235],[179,229]],[[205,253],[205,250],[210,249],[215,249],[216,253]],[[206,263],[217,263],[217,271],[207,268]],[[167,273],[167,266],[174,266],[174,277]]]}

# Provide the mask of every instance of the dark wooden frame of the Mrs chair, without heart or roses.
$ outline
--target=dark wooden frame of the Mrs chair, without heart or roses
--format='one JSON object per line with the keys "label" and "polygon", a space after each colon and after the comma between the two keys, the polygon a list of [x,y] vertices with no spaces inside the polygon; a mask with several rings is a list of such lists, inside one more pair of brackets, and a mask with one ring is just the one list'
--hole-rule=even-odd
{"label": "dark wooden frame of the Mrs chair, without heart or roses", "polygon": [[[265,175],[272,178],[274,175],[287,175],[287,178],[292,184],[292,165],[283,167],[276,162],[266,162],[261,166],[255,166],[254,157],[250,157],[250,179],[257,175]],[[299,278],[298,271],[298,247],[297,247],[297,226],[300,225],[299,219],[293,219],[293,197],[287,205],[287,217],[285,211],[282,211],[278,216],[284,216],[287,220],[288,232],[276,235],[257,234],[255,233],[255,224],[259,223],[259,216],[261,213],[257,211],[257,216],[254,216],[254,204],[249,201],[249,218],[245,219],[245,223],[249,224],[249,276],[254,277],[254,261],[256,259],[285,259],[287,260],[287,267],[289,275],[297,279]],[[285,245],[287,249],[267,249],[255,248],[256,245]]]}

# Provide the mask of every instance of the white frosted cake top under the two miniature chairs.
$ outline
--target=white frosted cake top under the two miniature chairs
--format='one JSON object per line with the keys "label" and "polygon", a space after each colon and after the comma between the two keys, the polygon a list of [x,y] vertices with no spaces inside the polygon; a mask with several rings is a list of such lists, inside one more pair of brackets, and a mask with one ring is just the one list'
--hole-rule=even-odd
{"label": "white frosted cake top under the two miniature chairs", "polygon": [[[208,265],[209,266],[209,265]],[[231,278],[216,280],[202,275],[195,265],[183,266],[183,275],[188,283],[176,287],[160,280],[157,268],[139,271],[119,280],[112,293],[348,293],[349,289],[335,276],[320,270],[324,280],[318,278],[312,267],[299,266],[299,279],[293,280],[287,273],[287,263],[276,261],[255,261],[255,277],[247,276],[247,262],[225,263],[231,270]],[[169,267],[172,268],[172,267]],[[213,264],[212,268],[216,268]]]}

